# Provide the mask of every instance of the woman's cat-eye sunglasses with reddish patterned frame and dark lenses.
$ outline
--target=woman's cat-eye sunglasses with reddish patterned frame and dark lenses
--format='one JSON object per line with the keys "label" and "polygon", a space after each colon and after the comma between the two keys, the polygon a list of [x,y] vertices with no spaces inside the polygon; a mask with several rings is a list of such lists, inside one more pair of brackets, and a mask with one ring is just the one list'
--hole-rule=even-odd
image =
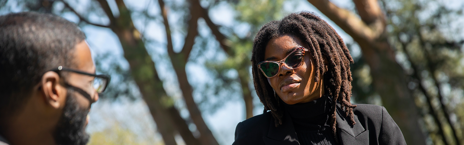
{"label": "woman's cat-eye sunglasses with reddish patterned frame and dark lenses", "polygon": [[280,70],[280,63],[284,63],[290,69],[295,69],[303,64],[304,52],[309,51],[304,47],[299,47],[293,50],[287,57],[280,61],[262,61],[258,63],[258,68],[267,78],[272,78],[277,75]]}

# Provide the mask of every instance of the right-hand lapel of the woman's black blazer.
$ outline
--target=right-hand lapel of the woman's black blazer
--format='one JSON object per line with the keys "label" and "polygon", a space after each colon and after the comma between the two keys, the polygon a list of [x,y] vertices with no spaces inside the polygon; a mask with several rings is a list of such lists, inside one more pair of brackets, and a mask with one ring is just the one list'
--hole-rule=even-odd
{"label": "right-hand lapel of the woman's black blazer", "polygon": [[344,114],[342,109],[337,106],[337,134],[342,145],[368,145],[369,130],[361,125],[356,115],[354,115],[356,124],[351,125],[351,121]]}

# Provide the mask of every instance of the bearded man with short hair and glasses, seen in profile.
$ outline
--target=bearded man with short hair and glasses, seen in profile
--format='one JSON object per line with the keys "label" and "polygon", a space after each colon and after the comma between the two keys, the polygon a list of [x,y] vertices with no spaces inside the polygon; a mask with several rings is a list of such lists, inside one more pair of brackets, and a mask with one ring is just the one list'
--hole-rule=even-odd
{"label": "bearded man with short hair and glasses, seen in profile", "polygon": [[85,145],[95,75],[84,33],[52,14],[0,16],[0,145]]}

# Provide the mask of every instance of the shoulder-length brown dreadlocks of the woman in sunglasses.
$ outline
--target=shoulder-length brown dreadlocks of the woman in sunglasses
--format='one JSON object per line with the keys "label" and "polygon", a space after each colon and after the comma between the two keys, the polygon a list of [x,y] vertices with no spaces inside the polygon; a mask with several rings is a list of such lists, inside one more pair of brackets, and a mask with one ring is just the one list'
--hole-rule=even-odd
{"label": "shoulder-length brown dreadlocks of the woman in sunglasses", "polygon": [[351,71],[350,63],[354,63],[348,48],[340,35],[314,13],[301,12],[291,13],[282,20],[273,20],[264,25],[256,34],[253,52],[251,55],[253,81],[259,100],[264,105],[264,112],[271,111],[275,119],[276,127],[282,125],[284,114],[279,97],[275,94],[267,78],[258,69],[258,63],[264,61],[264,51],[267,43],[272,38],[282,34],[291,34],[300,38],[308,44],[309,51],[315,59],[316,77],[314,81],[319,81],[319,75],[324,72],[324,57],[328,59],[328,71],[324,75],[324,88],[329,96],[333,97],[331,126],[334,137],[336,138],[336,105],[343,108],[344,112],[350,117],[354,125],[353,108],[356,105],[350,103],[351,97]]}

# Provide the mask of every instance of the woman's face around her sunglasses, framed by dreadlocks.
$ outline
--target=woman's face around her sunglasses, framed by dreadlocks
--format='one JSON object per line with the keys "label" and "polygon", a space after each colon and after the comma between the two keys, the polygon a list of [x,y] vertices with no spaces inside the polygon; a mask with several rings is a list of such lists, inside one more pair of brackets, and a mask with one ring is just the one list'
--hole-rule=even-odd
{"label": "woman's face around her sunglasses, framed by dreadlocks", "polygon": [[[284,59],[292,50],[304,47],[309,49],[308,44],[303,43],[299,38],[284,34],[271,39],[264,53],[264,60],[279,61]],[[272,78],[268,78],[277,95],[287,104],[306,103],[320,98],[324,94],[323,79],[315,82],[316,67],[312,54],[307,51],[304,53],[303,65],[290,69],[283,63],[280,70]]]}

